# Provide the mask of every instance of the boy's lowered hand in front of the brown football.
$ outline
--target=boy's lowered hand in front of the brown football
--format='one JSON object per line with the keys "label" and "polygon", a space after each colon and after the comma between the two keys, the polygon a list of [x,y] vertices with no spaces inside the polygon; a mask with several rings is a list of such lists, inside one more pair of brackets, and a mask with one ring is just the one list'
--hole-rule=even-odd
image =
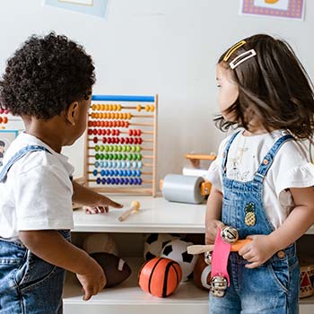
{"label": "boy's lowered hand in front of the brown football", "polygon": [[92,295],[96,295],[102,290],[106,283],[106,276],[100,265],[91,257],[91,263],[88,264],[88,271],[84,274],[76,274],[77,279],[83,286],[83,301],[88,301]]}

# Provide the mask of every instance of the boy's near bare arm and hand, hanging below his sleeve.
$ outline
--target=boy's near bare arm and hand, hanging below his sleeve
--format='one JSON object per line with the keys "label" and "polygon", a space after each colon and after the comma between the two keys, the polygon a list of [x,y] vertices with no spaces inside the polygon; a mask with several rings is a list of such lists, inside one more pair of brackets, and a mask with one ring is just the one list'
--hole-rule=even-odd
{"label": "boy's near bare arm and hand, hanging below his sleeve", "polygon": [[106,277],[100,265],[83,249],[65,240],[59,232],[20,231],[19,237],[36,256],[75,273],[83,285],[84,301],[91,299],[105,286]]}

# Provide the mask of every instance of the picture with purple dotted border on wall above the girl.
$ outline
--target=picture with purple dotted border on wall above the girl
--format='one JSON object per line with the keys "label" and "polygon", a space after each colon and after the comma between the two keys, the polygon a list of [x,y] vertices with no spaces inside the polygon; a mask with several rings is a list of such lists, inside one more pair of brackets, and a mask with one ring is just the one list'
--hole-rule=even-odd
{"label": "picture with purple dotted border on wall above the girl", "polygon": [[240,14],[303,20],[304,0],[240,0]]}

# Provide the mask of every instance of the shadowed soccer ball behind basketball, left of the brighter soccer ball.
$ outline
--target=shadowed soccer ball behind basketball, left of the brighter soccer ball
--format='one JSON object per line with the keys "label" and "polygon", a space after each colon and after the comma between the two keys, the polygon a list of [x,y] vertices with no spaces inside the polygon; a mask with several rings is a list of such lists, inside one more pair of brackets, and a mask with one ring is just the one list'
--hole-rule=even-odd
{"label": "shadowed soccer ball behind basketball, left of the brighter soccer ball", "polygon": [[144,259],[149,260],[153,257],[160,257],[162,248],[170,240],[179,239],[179,234],[152,233],[148,234],[144,241]]}

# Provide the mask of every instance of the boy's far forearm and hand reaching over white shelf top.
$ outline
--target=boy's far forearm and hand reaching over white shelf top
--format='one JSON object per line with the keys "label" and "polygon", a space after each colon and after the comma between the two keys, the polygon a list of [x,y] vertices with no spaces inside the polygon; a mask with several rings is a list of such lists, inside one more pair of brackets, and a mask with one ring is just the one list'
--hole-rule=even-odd
{"label": "boy's far forearm and hand reaching over white shelf top", "polygon": [[74,180],[72,181],[72,185],[74,190],[72,201],[75,204],[100,207],[100,212],[102,213],[104,211],[108,212],[108,206],[115,208],[123,207],[123,205],[112,201],[109,197],[96,193],[90,188],[85,188]]}

